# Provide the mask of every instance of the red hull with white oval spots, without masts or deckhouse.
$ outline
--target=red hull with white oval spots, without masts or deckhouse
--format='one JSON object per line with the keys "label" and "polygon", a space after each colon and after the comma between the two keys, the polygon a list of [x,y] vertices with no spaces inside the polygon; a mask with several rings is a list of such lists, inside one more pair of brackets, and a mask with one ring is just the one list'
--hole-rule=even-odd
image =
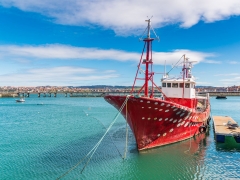
{"label": "red hull with white oval spots, without masts or deckhouse", "polygon": [[[126,96],[107,95],[104,99],[119,110]],[[199,134],[200,127],[208,123],[210,105],[207,102],[206,108],[198,111],[173,101],[130,96],[121,113],[134,133],[138,150],[143,150]]]}

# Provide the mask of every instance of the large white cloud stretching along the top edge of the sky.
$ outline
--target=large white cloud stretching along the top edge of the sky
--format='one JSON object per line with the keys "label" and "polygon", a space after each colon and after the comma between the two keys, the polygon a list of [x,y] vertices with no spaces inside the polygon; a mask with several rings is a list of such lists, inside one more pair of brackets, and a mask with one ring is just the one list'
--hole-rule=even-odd
{"label": "large white cloud stretching along the top edge of the sky", "polygon": [[56,23],[100,25],[117,34],[136,33],[153,16],[154,27],[177,23],[188,28],[240,14],[239,0],[0,0],[5,7],[41,13]]}

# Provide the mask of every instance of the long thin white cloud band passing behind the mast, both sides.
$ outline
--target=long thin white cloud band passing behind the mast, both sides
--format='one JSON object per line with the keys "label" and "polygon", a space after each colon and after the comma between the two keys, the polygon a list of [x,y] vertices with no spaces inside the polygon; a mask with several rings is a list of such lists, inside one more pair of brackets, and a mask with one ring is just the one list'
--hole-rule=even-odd
{"label": "long thin white cloud band passing behind the mast, both sides", "polygon": [[[172,52],[153,52],[154,64],[171,65],[176,63],[183,54],[190,58],[190,61],[201,62],[206,61],[207,57],[214,54],[191,51],[186,49],[178,49]],[[0,60],[16,60],[19,59],[57,59],[57,60],[116,60],[116,61],[139,61],[140,53],[127,52],[115,49],[97,49],[73,47],[60,44],[50,44],[42,46],[16,46],[16,45],[0,45]],[[30,60],[29,60],[30,61]],[[24,61],[25,62],[25,61]],[[26,61],[27,62],[27,61]]]}

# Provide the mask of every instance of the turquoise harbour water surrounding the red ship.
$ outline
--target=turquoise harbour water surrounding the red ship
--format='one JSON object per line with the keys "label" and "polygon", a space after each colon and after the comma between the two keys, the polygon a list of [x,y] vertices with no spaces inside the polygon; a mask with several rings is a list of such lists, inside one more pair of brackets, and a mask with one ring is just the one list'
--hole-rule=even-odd
{"label": "turquoise harbour water surrounding the red ship", "polygon": [[[211,98],[212,115],[240,123],[240,97]],[[117,110],[103,98],[31,95],[25,103],[0,98],[0,179],[57,179],[99,141]],[[238,179],[240,149],[217,145],[209,132],[191,140],[138,153],[122,116],[84,171],[79,164],[61,179]]]}

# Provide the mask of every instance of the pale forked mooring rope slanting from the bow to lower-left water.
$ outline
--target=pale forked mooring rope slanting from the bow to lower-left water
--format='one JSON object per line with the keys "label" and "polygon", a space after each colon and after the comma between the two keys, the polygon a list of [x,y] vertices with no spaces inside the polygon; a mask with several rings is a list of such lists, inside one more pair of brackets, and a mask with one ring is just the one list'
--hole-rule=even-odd
{"label": "pale forked mooring rope slanting from the bow to lower-left water", "polygon": [[115,123],[115,121],[117,120],[118,116],[120,115],[120,113],[122,112],[124,106],[127,104],[127,101],[129,99],[130,95],[126,96],[125,101],[123,102],[122,106],[120,107],[120,109],[118,110],[117,115],[115,116],[113,122],[109,125],[109,127],[107,128],[106,132],[103,134],[103,136],[101,137],[101,139],[97,142],[97,144],[87,153],[87,155],[82,158],[76,165],[74,165],[72,168],[70,168],[67,172],[65,172],[63,175],[61,175],[60,177],[57,178],[57,180],[63,178],[64,176],[66,176],[68,173],[70,173],[72,170],[74,170],[78,165],[80,165],[91,153],[91,156],[88,158],[88,161],[85,163],[83,169],[81,170],[81,173],[84,171],[84,169],[86,168],[86,166],[88,165],[88,163],[90,162],[93,154],[95,153],[95,151],[97,150],[98,146],[101,144],[102,140],[104,139],[104,137],[106,136],[106,134],[108,133],[108,131],[111,129],[111,127],[113,126],[113,124]]}

